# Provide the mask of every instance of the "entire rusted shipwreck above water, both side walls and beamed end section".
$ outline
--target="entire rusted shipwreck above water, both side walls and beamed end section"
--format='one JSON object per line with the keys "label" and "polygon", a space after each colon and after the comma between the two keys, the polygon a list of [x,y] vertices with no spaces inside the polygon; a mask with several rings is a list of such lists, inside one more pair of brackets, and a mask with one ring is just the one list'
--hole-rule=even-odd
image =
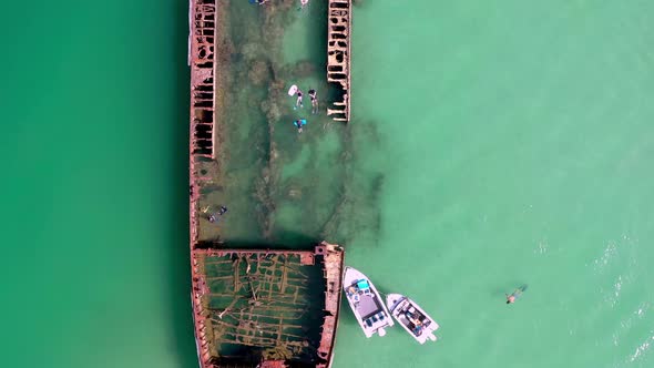
{"label": "entire rusted shipwreck above water, both side walls and beamed end section", "polygon": [[[329,0],[329,82],[345,91],[329,115],[349,121],[350,0]],[[326,242],[308,249],[231,247],[203,235],[204,191],[221,181],[219,0],[190,0],[190,235],[194,333],[201,368],[331,365],[340,306],[344,251]],[[217,98],[218,96],[218,98]],[[217,204],[214,204],[217,205]],[[226,211],[226,208],[225,208]]]}

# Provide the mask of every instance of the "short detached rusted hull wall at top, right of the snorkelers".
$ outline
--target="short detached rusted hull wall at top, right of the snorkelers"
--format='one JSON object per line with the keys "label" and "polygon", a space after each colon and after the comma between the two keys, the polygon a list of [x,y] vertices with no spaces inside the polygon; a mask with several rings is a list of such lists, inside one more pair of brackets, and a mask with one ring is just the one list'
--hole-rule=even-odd
{"label": "short detached rusted hull wall at top, right of the snorkelers", "polygon": [[327,115],[335,121],[350,120],[350,34],[351,0],[329,0],[327,25],[327,81],[343,89],[343,101],[334,102]]}

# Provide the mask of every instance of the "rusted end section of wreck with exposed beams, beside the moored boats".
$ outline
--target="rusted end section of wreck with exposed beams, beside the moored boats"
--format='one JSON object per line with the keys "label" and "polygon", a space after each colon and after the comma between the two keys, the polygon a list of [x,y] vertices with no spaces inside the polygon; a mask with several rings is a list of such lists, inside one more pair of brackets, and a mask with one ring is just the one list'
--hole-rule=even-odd
{"label": "rusted end section of wreck with exposed beams, beside the moored boats", "polygon": [[202,368],[331,364],[344,252],[193,249]]}

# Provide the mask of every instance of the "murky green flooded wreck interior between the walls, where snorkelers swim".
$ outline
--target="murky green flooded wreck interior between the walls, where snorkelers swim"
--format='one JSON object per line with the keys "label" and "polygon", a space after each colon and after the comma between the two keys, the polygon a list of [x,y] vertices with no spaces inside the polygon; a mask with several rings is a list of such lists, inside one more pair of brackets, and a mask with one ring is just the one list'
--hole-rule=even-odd
{"label": "murky green flooded wreck interior between the walls, where snorkelers swim", "polygon": [[[326,109],[338,93],[326,81],[327,8],[315,1],[298,11],[295,1],[253,6],[222,3],[226,18],[216,40],[219,154],[201,168],[200,241],[213,244],[303,246],[333,238],[346,192],[348,126]],[[225,54],[228,52],[228,54]],[[304,106],[287,94],[296,84]],[[308,90],[318,93],[311,113]],[[298,134],[293,122],[306,119]],[[228,208],[215,222],[210,216]]]}

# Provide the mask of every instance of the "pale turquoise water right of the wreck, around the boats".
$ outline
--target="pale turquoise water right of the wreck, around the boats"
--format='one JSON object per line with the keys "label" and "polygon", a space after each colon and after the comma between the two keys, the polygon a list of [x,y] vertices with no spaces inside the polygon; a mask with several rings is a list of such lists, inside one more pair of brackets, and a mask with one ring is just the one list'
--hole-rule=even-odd
{"label": "pale turquoise water right of the wreck, around the boats", "polygon": [[344,318],[337,367],[654,364],[652,10],[357,9],[351,126],[379,132],[385,180],[379,239],[349,243],[347,262],[420,303],[441,340],[366,341]]}

